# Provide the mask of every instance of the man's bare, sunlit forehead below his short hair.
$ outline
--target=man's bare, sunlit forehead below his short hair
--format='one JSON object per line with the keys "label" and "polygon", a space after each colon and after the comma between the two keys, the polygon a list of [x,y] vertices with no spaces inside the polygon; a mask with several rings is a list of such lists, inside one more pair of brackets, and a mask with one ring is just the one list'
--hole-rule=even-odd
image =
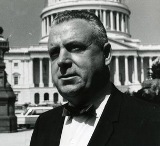
{"label": "man's bare, sunlit forehead below his short hair", "polygon": [[50,37],[56,39],[89,39],[93,35],[93,29],[90,24],[82,19],[73,19],[53,25]]}

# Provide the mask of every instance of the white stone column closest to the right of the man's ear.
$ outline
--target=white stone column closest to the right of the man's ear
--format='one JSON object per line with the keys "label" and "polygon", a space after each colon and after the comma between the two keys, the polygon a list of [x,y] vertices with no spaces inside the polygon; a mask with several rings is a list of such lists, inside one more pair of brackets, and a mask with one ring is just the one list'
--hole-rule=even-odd
{"label": "white stone column closest to the right of the man's ear", "polygon": [[119,81],[119,56],[115,56],[114,84],[115,85],[121,85],[121,83]]}

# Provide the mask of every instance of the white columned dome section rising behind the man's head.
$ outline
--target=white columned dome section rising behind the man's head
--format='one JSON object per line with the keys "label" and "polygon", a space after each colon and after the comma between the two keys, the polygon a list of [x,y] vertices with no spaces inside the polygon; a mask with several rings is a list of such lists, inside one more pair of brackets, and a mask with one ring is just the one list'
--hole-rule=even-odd
{"label": "white columned dome section rising behind the man's head", "polygon": [[65,10],[88,10],[95,13],[107,30],[109,37],[130,38],[130,10],[124,0],[45,0],[41,13],[41,44],[46,44],[56,13]]}

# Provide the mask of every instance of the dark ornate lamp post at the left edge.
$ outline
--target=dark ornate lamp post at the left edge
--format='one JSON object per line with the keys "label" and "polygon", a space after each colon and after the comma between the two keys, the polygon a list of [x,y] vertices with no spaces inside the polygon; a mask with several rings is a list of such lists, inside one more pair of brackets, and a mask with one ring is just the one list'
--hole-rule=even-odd
{"label": "dark ornate lamp post at the left edge", "polygon": [[0,27],[0,133],[17,131],[16,96],[7,82],[4,63],[4,54],[9,51],[9,42],[2,34],[3,28]]}

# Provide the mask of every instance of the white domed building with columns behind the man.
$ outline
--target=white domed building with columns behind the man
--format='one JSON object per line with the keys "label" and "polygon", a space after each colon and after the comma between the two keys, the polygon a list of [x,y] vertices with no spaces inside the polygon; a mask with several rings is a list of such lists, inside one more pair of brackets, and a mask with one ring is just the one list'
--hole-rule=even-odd
{"label": "white domed building with columns behind the man", "polygon": [[138,90],[147,79],[148,69],[160,54],[160,45],[142,45],[140,40],[131,38],[131,12],[124,0],[45,0],[38,45],[12,47],[5,54],[8,82],[16,94],[17,104],[65,102],[52,82],[48,34],[57,12],[82,9],[95,13],[107,30],[112,46],[112,82],[123,91]]}

